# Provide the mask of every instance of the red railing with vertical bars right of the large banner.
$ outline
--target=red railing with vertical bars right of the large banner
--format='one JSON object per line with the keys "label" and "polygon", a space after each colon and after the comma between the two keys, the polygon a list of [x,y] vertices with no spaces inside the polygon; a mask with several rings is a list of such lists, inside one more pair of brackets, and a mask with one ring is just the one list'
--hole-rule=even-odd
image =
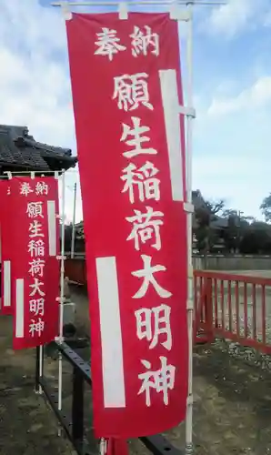
{"label": "red railing with vertical bars right of the large banner", "polygon": [[195,270],[195,341],[231,339],[271,353],[271,278]]}

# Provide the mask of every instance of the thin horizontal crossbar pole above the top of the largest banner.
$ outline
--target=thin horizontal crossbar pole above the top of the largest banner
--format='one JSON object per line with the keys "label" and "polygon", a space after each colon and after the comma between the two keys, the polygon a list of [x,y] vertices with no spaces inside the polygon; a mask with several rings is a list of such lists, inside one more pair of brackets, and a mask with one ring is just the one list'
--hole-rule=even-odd
{"label": "thin horizontal crossbar pole above the top of the largest banner", "polygon": [[[51,3],[52,6],[118,6],[121,2],[53,2]],[[125,5],[154,5],[154,6],[163,6],[163,5],[226,5],[226,1],[201,1],[201,0],[178,0],[177,2],[174,0],[135,0],[125,2]]]}

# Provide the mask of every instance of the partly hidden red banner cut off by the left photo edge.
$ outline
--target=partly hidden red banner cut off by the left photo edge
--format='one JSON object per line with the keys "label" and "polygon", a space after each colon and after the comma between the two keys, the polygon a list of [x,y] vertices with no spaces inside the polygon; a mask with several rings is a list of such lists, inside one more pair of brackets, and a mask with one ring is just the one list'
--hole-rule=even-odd
{"label": "partly hidden red banner cut off by the left photo edge", "polygon": [[1,194],[1,217],[0,217],[0,232],[1,232],[1,314],[12,315],[12,242],[11,234],[11,198],[9,180],[0,181]]}

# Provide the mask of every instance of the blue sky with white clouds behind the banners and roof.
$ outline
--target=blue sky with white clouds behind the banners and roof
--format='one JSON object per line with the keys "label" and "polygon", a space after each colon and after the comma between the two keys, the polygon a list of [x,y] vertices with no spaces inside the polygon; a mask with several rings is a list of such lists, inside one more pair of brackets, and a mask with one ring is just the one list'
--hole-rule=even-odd
{"label": "blue sky with white clouds behind the banners and roof", "polygon": [[[28,126],[36,140],[71,147],[76,155],[60,8],[48,0],[0,0],[0,11],[0,124]],[[182,27],[182,62],[185,32]],[[271,192],[270,48],[271,0],[195,6],[193,188],[259,219]],[[72,170],[65,178],[67,220],[75,182],[78,172]]]}

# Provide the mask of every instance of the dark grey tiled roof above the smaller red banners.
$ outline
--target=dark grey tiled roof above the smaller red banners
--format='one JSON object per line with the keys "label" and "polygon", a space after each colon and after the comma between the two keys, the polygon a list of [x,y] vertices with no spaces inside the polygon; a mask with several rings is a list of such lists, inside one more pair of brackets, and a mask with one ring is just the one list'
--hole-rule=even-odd
{"label": "dark grey tiled roof above the smaller red banners", "polygon": [[75,167],[76,157],[69,148],[52,147],[36,142],[26,126],[0,125],[0,166],[30,167],[35,170],[57,170]]}

